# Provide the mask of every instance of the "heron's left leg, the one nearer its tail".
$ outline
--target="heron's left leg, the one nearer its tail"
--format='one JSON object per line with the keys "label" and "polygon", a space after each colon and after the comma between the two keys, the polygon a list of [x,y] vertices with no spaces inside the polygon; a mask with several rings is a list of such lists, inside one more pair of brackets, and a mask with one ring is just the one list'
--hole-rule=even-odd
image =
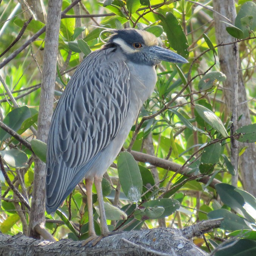
{"label": "heron's left leg, the one nearer its tail", "polygon": [[88,219],[89,219],[89,237],[96,238],[96,233],[93,224],[93,199],[92,199],[92,187],[93,178],[85,179],[86,197],[87,197],[87,207],[88,207]]}

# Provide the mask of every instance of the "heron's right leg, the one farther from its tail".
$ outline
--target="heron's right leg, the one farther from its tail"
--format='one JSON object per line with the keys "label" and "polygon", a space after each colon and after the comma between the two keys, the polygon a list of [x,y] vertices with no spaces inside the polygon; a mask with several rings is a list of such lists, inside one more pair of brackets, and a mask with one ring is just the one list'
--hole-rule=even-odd
{"label": "heron's right leg, the one farther from its tail", "polygon": [[94,184],[96,187],[99,208],[100,208],[100,230],[101,230],[102,236],[108,236],[109,231],[108,231],[108,225],[106,224],[106,215],[104,210],[104,201],[103,201],[103,195],[102,195],[101,182],[102,182],[102,176],[101,177],[94,176]]}

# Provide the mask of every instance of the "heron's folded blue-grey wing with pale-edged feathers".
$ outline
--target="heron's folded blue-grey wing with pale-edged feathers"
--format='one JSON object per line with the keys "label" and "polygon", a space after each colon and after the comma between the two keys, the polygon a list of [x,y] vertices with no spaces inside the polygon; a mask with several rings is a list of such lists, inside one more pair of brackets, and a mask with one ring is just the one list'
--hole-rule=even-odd
{"label": "heron's folded blue-grey wing with pale-edged feathers", "polygon": [[80,170],[93,164],[98,153],[116,137],[127,116],[130,74],[123,58],[116,48],[89,54],[57,104],[47,143],[49,213],[86,175]]}

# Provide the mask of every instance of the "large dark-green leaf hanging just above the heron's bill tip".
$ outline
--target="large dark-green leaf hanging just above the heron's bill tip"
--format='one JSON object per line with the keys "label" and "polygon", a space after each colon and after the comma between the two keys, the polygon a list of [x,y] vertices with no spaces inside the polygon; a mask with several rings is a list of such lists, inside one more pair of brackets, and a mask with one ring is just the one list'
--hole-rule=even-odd
{"label": "large dark-green leaf hanging just above the heron's bill tip", "polygon": [[166,16],[158,14],[158,17],[162,21],[163,29],[166,32],[171,47],[176,50],[178,54],[187,58],[189,55],[187,50],[188,41],[177,18],[171,12],[167,12]]}

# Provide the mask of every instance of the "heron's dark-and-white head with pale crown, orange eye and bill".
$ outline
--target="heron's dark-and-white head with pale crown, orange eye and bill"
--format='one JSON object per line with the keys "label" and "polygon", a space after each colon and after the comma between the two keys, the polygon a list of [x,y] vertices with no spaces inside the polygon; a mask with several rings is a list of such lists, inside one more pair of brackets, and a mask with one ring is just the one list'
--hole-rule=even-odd
{"label": "heron's dark-and-white head with pale crown, orange eye and bill", "polygon": [[187,63],[179,54],[172,52],[159,44],[155,35],[139,29],[116,29],[108,43],[119,45],[123,54],[134,63],[154,66],[162,60],[167,62]]}

